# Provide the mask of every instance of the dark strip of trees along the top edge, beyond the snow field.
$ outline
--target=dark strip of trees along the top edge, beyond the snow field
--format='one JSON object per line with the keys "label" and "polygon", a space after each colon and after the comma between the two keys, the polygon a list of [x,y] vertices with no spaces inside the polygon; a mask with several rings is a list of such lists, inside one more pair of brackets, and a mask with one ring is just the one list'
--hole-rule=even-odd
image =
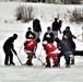
{"label": "dark strip of trees along the top edge, beyond the snow field", "polygon": [[83,0],[0,0],[0,1],[23,1],[23,2],[46,2],[57,4],[82,4]]}

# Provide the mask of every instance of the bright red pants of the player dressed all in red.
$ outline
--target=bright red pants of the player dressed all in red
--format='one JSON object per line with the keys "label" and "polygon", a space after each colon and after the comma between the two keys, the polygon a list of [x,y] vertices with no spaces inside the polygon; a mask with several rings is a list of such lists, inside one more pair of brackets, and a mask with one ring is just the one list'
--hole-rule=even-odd
{"label": "bright red pants of the player dressed all in red", "polygon": [[47,62],[48,66],[50,66],[50,58],[51,58],[52,61],[54,61],[54,66],[58,66],[57,55],[58,55],[58,54],[48,54],[48,55],[47,55],[47,57],[46,57],[46,62]]}

